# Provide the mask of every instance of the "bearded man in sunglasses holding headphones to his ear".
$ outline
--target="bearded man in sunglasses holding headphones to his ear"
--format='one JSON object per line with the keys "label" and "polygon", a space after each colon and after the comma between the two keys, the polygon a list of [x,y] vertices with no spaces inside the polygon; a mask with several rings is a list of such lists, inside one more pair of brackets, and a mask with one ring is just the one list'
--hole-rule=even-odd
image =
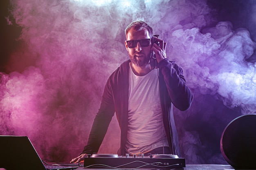
{"label": "bearded man in sunglasses holding headphones to his ear", "polygon": [[[132,22],[125,34],[130,60],[110,75],[88,143],[71,162],[98,152],[115,113],[121,129],[118,155],[180,156],[172,107],[187,110],[193,99],[182,68],[166,58],[166,42],[154,37],[159,46],[152,44],[153,30],[145,22]],[[158,68],[151,70],[149,61],[153,52]]]}

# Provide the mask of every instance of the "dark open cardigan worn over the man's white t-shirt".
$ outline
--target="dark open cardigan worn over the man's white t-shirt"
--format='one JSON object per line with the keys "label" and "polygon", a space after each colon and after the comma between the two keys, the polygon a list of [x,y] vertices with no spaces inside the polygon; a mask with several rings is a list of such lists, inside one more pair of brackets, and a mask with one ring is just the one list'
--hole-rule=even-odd
{"label": "dark open cardigan worn over the man's white t-shirt", "polygon": [[[130,60],[127,60],[122,63],[108,78],[104,88],[101,106],[94,119],[88,143],[82,153],[92,154],[98,152],[110,121],[116,113],[121,129],[121,145],[118,155],[126,154],[129,62]],[[164,129],[171,152],[181,156],[172,107],[174,105],[179,110],[187,110],[191,105],[193,95],[186,85],[182,68],[175,64],[175,62],[164,59],[158,64],[158,67]]]}

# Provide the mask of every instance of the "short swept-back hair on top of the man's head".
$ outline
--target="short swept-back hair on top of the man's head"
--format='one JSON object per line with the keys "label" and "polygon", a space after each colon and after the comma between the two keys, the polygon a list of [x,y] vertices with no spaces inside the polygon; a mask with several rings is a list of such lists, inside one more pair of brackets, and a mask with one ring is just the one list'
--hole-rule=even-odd
{"label": "short swept-back hair on top of the man's head", "polygon": [[141,20],[137,20],[137,21],[133,21],[132,23],[130,23],[124,33],[125,35],[127,35],[128,31],[130,31],[130,29],[134,29],[135,31],[141,31],[143,29],[147,29],[148,30],[148,33],[149,33],[149,36],[150,38],[153,37],[153,29],[151,26],[149,26],[146,22],[144,21],[141,21]]}

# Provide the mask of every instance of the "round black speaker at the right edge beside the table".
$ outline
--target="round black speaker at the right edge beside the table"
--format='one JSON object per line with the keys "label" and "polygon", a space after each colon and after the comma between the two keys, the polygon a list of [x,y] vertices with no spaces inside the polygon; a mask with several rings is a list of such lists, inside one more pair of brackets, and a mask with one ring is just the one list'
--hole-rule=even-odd
{"label": "round black speaker at the right edge beside the table", "polygon": [[235,169],[256,169],[256,114],[232,120],[222,132],[220,150]]}

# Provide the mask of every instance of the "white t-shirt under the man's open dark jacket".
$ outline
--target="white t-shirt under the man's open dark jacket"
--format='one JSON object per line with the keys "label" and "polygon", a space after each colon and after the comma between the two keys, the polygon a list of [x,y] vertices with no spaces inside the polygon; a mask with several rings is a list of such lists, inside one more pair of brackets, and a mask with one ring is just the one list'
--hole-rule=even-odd
{"label": "white t-shirt under the man's open dark jacket", "polygon": [[168,146],[162,123],[157,69],[137,76],[130,68],[128,97],[126,152],[133,155]]}

